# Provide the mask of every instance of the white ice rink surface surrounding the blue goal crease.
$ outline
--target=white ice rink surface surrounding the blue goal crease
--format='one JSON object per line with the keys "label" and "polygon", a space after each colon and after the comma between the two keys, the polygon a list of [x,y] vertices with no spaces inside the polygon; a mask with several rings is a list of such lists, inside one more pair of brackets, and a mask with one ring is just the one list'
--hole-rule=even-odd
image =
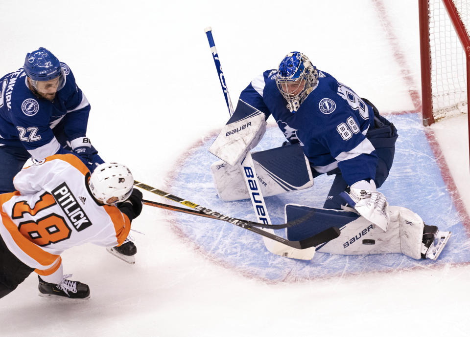
{"label": "white ice rink surface surrounding the blue goal crease", "polygon": [[[92,105],[103,158],[155,187],[171,189],[175,162],[228,118],[209,25],[234,101],[292,50],[385,114],[414,110],[421,91],[417,1],[18,0],[0,13],[0,73],[50,49]],[[432,129],[470,210],[466,116]],[[63,254],[88,301],[39,297],[32,274],[0,300],[0,336],[470,336],[468,264],[269,284],[212,263],[168,218],[145,208],[136,219],[135,265],[93,245]]]}

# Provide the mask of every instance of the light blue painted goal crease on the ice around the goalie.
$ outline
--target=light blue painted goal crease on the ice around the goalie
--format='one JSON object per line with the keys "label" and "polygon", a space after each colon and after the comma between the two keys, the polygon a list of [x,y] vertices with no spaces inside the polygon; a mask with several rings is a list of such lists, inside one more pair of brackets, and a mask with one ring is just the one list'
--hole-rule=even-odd
{"label": "light blue painted goal crease on the ice around the goalie", "polygon": [[[470,261],[470,241],[458,216],[447,186],[442,178],[431,147],[424,134],[420,116],[416,113],[387,116],[397,127],[399,137],[390,175],[380,188],[390,205],[402,206],[419,214],[427,225],[452,231],[446,248],[436,261],[414,260],[402,254],[334,255],[316,253],[312,260],[294,260],[269,253],[261,236],[229,223],[195,218],[174,213],[181,232],[210,255],[243,275],[269,281],[312,279],[316,277],[357,274],[363,272],[390,272],[407,270],[422,265],[462,263]],[[254,151],[281,146],[285,140],[277,127],[268,127]],[[256,221],[250,200],[224,202],[216,196],[210,166],[218,158],[208,152],[213,138],[193,147],[184,154],[173,172],[171,182],[175,195],[189,196],[201,206],[232,217]],[[295,203],[322,207],[333,177],[321,175],[306,190],[266,197],[265,202],[273,223],[284,222],[284,205]],[[285,236],[284,230],[276,231]]]}

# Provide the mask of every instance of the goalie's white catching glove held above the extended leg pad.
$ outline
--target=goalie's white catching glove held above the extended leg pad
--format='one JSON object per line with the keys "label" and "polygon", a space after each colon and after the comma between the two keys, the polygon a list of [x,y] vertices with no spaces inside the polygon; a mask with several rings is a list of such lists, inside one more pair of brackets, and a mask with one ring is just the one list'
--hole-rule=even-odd
{"label": "goalie's white catching glove held above the extended leg pad", "polygon": [[376,183],[365,180],[352,184],[351,192],[341,193],[343,198],[364,218],[380,227],[384,232],[390,224],[388,202],[385,195],[376,191]]}

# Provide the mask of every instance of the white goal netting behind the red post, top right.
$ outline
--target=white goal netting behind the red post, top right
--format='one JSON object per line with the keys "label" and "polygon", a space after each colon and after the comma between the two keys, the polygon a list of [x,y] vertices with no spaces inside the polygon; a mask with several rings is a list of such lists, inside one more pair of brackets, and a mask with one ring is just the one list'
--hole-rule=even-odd
{"label": "white goal netting behind the red post, top right", "polygon": [[[469,32],[469,1],[454,0]],[[442,0],[429,0],[432,105],[435,120],[467,112],[465,51]]]}

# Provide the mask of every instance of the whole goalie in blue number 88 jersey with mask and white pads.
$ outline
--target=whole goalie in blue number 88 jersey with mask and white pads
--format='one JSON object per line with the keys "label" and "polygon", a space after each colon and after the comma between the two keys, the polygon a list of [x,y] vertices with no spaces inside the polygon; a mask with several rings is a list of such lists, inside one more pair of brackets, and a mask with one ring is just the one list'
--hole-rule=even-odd
{"label": "whole goalie in blue number 88 jersey with mask and white pads", "polygon": [[335,175],[323,209],[286,205],[287,220],[314,211],[304,224],[287,229],[288,239],[304,239],[325,226],[337,226],[340,236],[317,247],[319,252],[439,256],[451,232],[424,224],[408,209],[389,207],[377,191],[392,167],[395,126],[370,101],[318,70],[300,52],[287,54],[278,69],[266,70],[248,84],[209,148],[222,159],[211,166],[220,198],[232,201],[249,195],[237,167],[263,136],[270,115],[287,142],[252,153],[264,196],[308,188],[324,173]]}

